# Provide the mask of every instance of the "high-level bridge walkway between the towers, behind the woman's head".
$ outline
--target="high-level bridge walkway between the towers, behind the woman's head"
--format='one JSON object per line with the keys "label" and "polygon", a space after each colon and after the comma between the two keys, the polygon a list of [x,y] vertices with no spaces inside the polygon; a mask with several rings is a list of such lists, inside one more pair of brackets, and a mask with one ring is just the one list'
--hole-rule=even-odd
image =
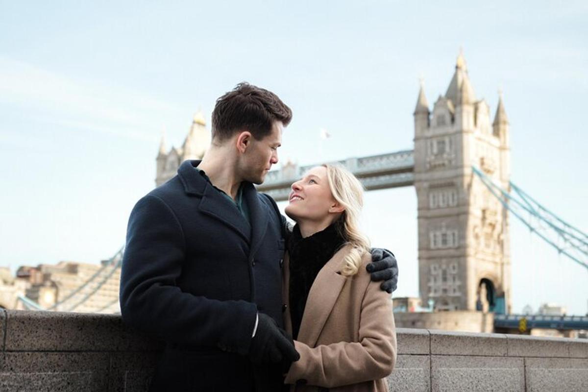
{"label": "high-level bridge walkway between the towers, behind the woman's head", "polygon": [[[362,156],[339,160],[362,182],[366,190],[412,186],[415,182],[415,159],[413,150],[403,150],[381,155]],[[306,170],[316,165],[298,166],[286,164],[281,170],[268,173],[260,192],[267,193],[280,202],[288,200],[290,186],[300,179]]]}

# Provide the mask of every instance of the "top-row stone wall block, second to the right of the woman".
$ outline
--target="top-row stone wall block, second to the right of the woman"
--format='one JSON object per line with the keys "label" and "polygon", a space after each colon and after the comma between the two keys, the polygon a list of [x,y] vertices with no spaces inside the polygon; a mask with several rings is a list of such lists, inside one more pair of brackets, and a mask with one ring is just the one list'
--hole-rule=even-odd
{"label": "top-row stone wall block, second to the right of the woman", "polygon": [[431,354],[504,357],[504,334],[429,330]]}

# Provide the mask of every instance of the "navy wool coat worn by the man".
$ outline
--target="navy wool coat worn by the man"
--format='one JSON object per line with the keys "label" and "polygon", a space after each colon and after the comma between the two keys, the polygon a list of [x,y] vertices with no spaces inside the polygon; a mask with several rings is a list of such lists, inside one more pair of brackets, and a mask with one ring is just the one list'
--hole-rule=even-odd
{"label": "navy wool coat worn by the man", "polygon": [[121,273],[129,326],[166,342],[151,390],[274,390],[246,354],[256,313],[282,321],[283,217],[251,183],[249,223],[186,161],[131,212]]}

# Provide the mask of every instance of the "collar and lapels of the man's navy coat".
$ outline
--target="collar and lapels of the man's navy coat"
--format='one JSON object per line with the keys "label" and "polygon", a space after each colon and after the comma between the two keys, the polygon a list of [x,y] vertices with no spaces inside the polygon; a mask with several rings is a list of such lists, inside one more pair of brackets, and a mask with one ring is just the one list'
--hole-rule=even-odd
{"label": "collar and lapels of the man's navy coat", "polygon": [[259,200],[259,195],[252,183],[243,185],[243,200],[249,207],[251,225],[243,218],[234,203],[219,195],[211,183],[195,170],[200,160],[186,160],[178,169],[178,176],[188,195],[202,196],[199,204],[201,212],[215,217],[225,225],[236,230],[246,241],[250,242],[250,256],[255,256],[268,228],[269,212],[267,206]]}

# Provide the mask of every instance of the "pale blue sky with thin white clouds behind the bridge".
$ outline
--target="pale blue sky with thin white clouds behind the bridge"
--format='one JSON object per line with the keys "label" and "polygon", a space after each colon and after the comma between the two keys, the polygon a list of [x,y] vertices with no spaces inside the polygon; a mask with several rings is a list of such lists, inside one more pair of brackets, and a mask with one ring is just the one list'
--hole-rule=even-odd
{"label": "pale blue sky with thin white clouds behind the bridge", "polygon": [[[0,266],[116,253],[162,133],[181,145],[242,81],[293,110],[281,162],[413,149],[419,79],[432,105],[460,48],[492,115],[503,91],[512,181],[588,232],[588,5],[512,3],[0,0]],[[418,296],[415,189],[365,205],[399,261],[395,296]],[[510,222],[513,310],[588,313],[588,271]]]}

